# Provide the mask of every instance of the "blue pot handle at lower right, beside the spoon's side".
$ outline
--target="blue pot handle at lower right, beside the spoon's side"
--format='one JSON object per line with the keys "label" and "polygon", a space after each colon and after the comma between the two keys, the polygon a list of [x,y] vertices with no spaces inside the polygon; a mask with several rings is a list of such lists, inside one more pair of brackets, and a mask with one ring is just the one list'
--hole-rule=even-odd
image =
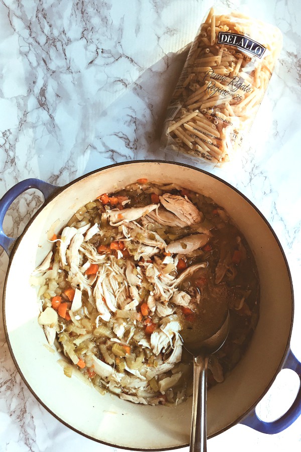
{"label": "blue pot handle at lower right, beside the spoon's side", "polygon": [[289,427],[301,414],[301,363],[296,359],[292,351],[289,349],[286,359],[283,364],[283,369],[293,370],[300,379],[300,387],[296,398],[290,408],[281,417],[273,422],[264,422],[259,419],[255,413],[255,409],[248,414],[240,423],[247,425],[261,433],[274,434],[285,430]]}

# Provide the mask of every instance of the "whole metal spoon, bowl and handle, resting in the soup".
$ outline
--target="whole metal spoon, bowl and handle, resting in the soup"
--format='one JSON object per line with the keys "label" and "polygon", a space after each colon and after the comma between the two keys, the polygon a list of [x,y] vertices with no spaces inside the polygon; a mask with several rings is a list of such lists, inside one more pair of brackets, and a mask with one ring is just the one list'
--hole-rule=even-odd
{"label": "whole metal spoon, bowl and handle, resting in the soup", "polygon": [[[212,325],[211,325],[212,327]],[[193,377],[193,411],[190,436],[190,452],[206,452],[207,450],[207,367],[210,355],[217,352],[229,333],[230,314],[226,313],[226,319],[220,326],[217,324],[217,332],[207,339],[199,336],[199,340],[194,331],[191,336],[186,331],[181,335],[184,340],[184,347],[194,356],[194,377]],[[213,329],[214,330],[214,329]],[[183,334],[184,332],[184,334]],[[186,337],[185,337],[186,336]],[[192,337],[192,339],[191,339]]]}

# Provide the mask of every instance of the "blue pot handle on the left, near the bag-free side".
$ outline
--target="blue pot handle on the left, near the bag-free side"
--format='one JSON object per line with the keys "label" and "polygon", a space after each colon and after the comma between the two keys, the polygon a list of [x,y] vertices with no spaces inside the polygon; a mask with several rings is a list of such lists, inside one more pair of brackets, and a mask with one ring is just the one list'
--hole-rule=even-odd
{"label": "blue pot handle on the left, near the bag-free side", "polygon": [[48,182],[44,182],[40,179],[25,179],[18,184],[14,185],[10,188],[5,195],[0,199],[0,246],[6,251],[8,256],[10,256],[14,243],[17,239],[13,239],[12,237],[8,237],[3,232],[3,220],[5,217],[8,208],[12,204],[12,202],[24,191],[29,190],[30,188],[37,188],[40,190],[45,198],[45,201],[51,196],[59,187],[56,185],[49,184]]}

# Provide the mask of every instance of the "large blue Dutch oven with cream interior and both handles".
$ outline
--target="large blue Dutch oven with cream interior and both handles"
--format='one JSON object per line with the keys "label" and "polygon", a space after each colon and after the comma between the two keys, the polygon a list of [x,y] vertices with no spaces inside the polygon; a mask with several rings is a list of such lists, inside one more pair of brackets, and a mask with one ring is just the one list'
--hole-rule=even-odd
{"label": "large blue Dutch oven with cream interior and both handles", "polygon": [[[31,256],[28,262],[29,272],[23,281],[23,287],[26,285],[29,286],[27,278],[29,277],[30,272],[41,262],[42,258],[44,258],[50,250],[50,244],[47,242],[47,228],[49,229],[50,224],[59,217],[61,219],[61,229],[72,216],[73,212],[81,205],[94,199],[101,192],[113,191],[116,187],[121,188],[126,184],[135,181],[136,178],[141,177],[141,175],[147,177],[148,180],[162,182],[173,181],[192,190],[200,191],[211,196],[216,202],[226,208],[230,216],[237,223],[239,229],[247,238],[257,262],[259,275],[261,267],[264,265],[265,271],[263,273],[270,273],[270,278],[273,278],[275,270],[269,270],[270,261],[277,268],[279,266],[281,267],[282,270],[280,269],[280,275],[282,282],[280,289],[275,288],[274,292],[271,294],[268,292],[269,284],[277,284],[279,275],[275,275],[274,279],[267,283],[263,281],[261,287],[261,293],[263,293],[265,299],[261,299],[260,301],[260,320],[253,336],[254,339],[252,338],[250,349],[256,347],[253,343],[256,343],[257,336],[259,342],[260,334],[263,334],[262,337],[264,337],[264,332],[257,332],[257,329],[269,330],[269,336],[264,337],[265,346],[261,348],[257,347],[257,350],[250,350],[246,353],[246,356],[242,360],[244,361],[244,364],[239,364],[237,366],[238,368],[240,366],[236,376],[238,380],[235,381],[236,377],[235,375],[233,376],[234,386],[231,382],[231,373],[224,383],[217,385],[215,387],[216,389],[213,388],[209,391],[208,435],[211,437],[219,434],[237,423],[247,425],[262,433],[274,434],[281,432],[291,425],[301,413],[301,388],[299,388],[297,396],[287,412],[273,422],[263,422],[259,419],[256,415],[255,408],[264,394],[268,391],[281,369],[291,369],[299,376],[299,378],[301,378],[301,364],[293,355],[289,347],[293,320],[293,295],[291,277],[286,258],[281,245],[267,220],[242,193],[218,177],[184,164],[161,161],[126,162],[93,171],[64,187],[57,187],[39,179],[27,179],[17,183],[2,197],[0,200],[0,245],[10,257],[5,283],[3,305],[4,321],[7,341],[18,371],[31,392],[48,411],[68,427],[91,439],[111,446],[125,447],[132,450],[162,450],[188,445],[191,422],[191,401],[181,404],[175,409],[168,409],[162,406],[136,406],[129,402],[121,401],[116,396],[100,396],[92,388],[83,388],[85,385],[75,378],[71,379],[74,380],[72,382],[72,385],[74,385],[72,391],[81,391],[83,395],[82,399],[84,398],[87,400],[87,406],[83,406],[82,416],[80,416],[81,422],[77,422],[75,418],[70,415],[70,411],[72,411],[72,409],[70,409],[70,407],[72,408],[72,391],[70,394],[68,392],[70,379],[67,379],[61,372],[61,369],[59,369],[60,366],[56,363],[57,357],[53,359],[52,356],[50,357],[51,354],[45,352],[46,348],[42,347],[46,340],[43,331],[38,326],[38,311],[35,310],[35,307],[31,307],[31,313],[27,315],[27,309],[25,309],[24,316],[27,316],[26,321],[19,321],[19,324],[15,325],[13,320],[14,313],[9,308],[10,287],[14,284],[14,282],[11,281],[14,275],[12,275],[12,278],[10,275],[11,273],[15,273],[15,268],[16,274],[18,274],[20,255],[22,256],[23,268],[27,255]],[[12,239],[3,232],[3,220],[5,214],[11,203],[20,194],[30,188],[36,188],[43,193],[45,198],[44,204],[35,213],[20,238]],[[57,213],[56,209],[58,209]],[[245,219],[242,220],[242,218]],[[257,227],[260,229],[260,234],[257,232],[253,234],[252,231]],[[26,244],[28,240],[27,236],[31,240],[31,247],[23,245],[23,243]],[[262,239],[260,238],[261,236],[263,236]],[[34,249],[32,250],[32,248]],[[269,254],[268,260],[265,260],[266,254]],[[262,264],[260,263],[261,260],[263,260]],[[260,276],[260,284],[261,282]],[[22,283],[22,281],[20,283]],[[265,289],[265,285],[267,289]],[[287,305],[285,308],[282,308],[281,300],[277,303],[276,301],[274,302],[273,299],[277,298],[277,293],[279,290],[281,291],[281,287],[284,286],[286,287],[287,300],[285,303],[287,303]],[[267,292],[266,296],[264,296],[265,292]],[[284,297],[283,294],[281,296]],[[27,301],[27,298],[25,298],[23,304],[27,303]],[[266,306],[268,303],[272,303],[272,305]],[[30,306],[32,306],[32,304]],[[269,309],[270,313],[268,312]],[[277,314],[278,310],[280,310],[279,314]],[[267,311],[267,314],[265,314],[265,311]],[[266,317],[268,314],[270,317]],[[278,325],[273,327],[271,323],[278,322],[279,325],[281,325],[280,322],[283,315],[286,315],[287,319],[286,327],[284,328],[285,331],[283,337],[281,337],[281,327],[279,328]],[[279,319],[277,319],[277,316]],[[263,324],[263,327],[261,327],[260,322],[262,321],[264,323],[265,317],[270,318],[271,321]],[[25,339],[22,338],[23,331],[26,330],[26,325],[28,323],[31,325],[31,335],[33,335],[32,341],[30,340],[29,335],[24,336],[26,337]],[[20,347],[22,347],[24,340],[28,342],[27,350],[29,350],[29,347],[35,347],[38,343],[38,348],[33,353],[32,357],[27,356],[27,361],[32,359],[32,372],[30,369],[26,368],[26,364],[22,359]],[[274,342],[274,344],[270,344],[271,342]],[[40,362],[35,371],[36,356],[40,353],[40,349],[43,349],[43,356],[41,355],[39,358]],[[278,351],[278,349],[281,350]],[[260,357],[261,354],[263,355],[262,357]],[[264,356],[264,354],[266,354],[266,356]],[[275,355],[277,355],[277,358],[274,358]],[[52,364],[49,364],[51,359]],[[273,361],[273,359],[275,360],[273,364],[274,369],[269,369],[268,375],[265,377],[265,370],[263,369],[263,371],[260,372],[259,369],[268,366],[266,362]],[[252,360],[255,364],[248,364],[248,362]],[[250,382],[246,381],[246,387],[243,388],[244,381],[249,378],[248,375],[254,365],[255,367],[257,366],[257,370],[255,369],[255,376],[253,375],[251,378],[253,381],[255,380],[255,383],[252,383],[253,386],[251,385],[250,387]],[[246,370],[244,367],[246,367]],[[41,374],[40,378],[46,379],[44,385],[46,387],[48,374],[50,374],[50,379],[59,378],[62,380],[61,384],[64,387],[63,393],[66,404],[69,406],[69,414],[66,414],[66,412],[52,400],[54,397],[51,397],[50,400],[50,397],[45,394],[43,386],[39,385],[37,379],[33,377],[33,374],[39,369]],[[57,372],[57,374],[52,375],[53,372]],[[235,374],[236,370],[233,370],[232,372]],[[243,378],[240,378],[240,376],[243,376]],[[256,378],[260,381],[259,389],[256,388]],[[264,382],[265,379],[266,381]],[[233,390],[233,387],[235,387],[235,390]],[[216,395],[214,394],[214,390],[217,392]],[[99,397],[98,405],[95,402],[95,398],[97,397]],[[58,398],[60,398],[59,394]],[[239,406],[240,403],[242,404],[241,407]],[[232,408],[229,408],[228,405],[231,406],[231,404]],[[78,412],[75,407],[74,410]],[[177,413],[174,410],[177,410]],[[106,418],[108,417],[108,414],[106,413],[113,411],[116,415],[112,426],[112,422],[106,422]],[[90,426],[85,425],[85,413],[92,413],[92,417],[96,417],[96,421],[91,421],[90,423],[92,423],[92,425]],[[125,413],[127,413],[127,416],[124,416]],[[89,418],[91,419],[91,415]],[[125,419],[128,419],[128,424],[125,422]],[[177,420],[175,421],[175,419]],[[126,424],[125,427],[124,423]],[[172,426],[172,424],[175,425]],[[104,425],[105,427],[100,428],[101,425]],[[138,436],[142,437],[142,440],[140,441],[139,439],[136,439],[137,435],[135,432],[137,430],[140,432]],[[145,431],[145,434],[141,434],[143,431]],[[145,438],[148,438],[146,443]]]}

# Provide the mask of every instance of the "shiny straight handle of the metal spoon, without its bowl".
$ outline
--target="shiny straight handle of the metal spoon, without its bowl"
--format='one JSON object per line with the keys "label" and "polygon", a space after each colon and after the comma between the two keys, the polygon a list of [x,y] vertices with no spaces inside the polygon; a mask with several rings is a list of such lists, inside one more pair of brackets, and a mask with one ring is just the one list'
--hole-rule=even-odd
{"label": "shiny straight handle of the metal spoon, without its bowl", "polygon": [[207,451],[207,366],[208,357],[194,358],[190,452]]}

